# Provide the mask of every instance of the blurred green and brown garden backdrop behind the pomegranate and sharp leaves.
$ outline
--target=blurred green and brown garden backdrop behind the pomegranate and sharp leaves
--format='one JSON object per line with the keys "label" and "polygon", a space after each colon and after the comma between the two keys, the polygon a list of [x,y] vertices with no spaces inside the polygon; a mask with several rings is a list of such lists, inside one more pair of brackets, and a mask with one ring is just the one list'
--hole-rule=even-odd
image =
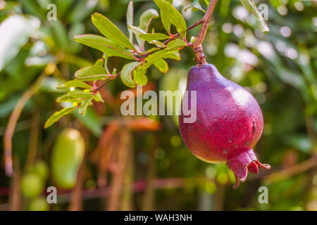
{"label": "blurred green and brown garden backdrop behind the pomegranate and sharp leaves", "polygon": [[[221,0],[204,41],[207,62],[250,91],[263,111],[255,151],[272,169],[249,174],[234,190],[235,179],[224,164],[211,165],[190,153],[175,117],[153,121],[120,115],[120,92],[127,89],[120,79],[101,90],[106,102],[94,103],[85,117],[72,113],[44,129],[47,118],[61,108],[55,103],[61,95],[56,85],[102,56],[73,37],[99,34],[90,19],[96,11],[128,35],[128,0],[0,0],[0,210],[317,210],[317,2],[255,2],[268,7],[271,32],[259,32],[240,1]],[[50,3],[57,6],[58,20],[46,19]],[[191,8],[185,12],[190,4],[173,4],[188,26],[204,15]],[[205,1],[199,4],[206,9]],[[134,6],[136,25],[146,9],[158,10],[153,1],[134,1]],[[152,28],[165,33],[159,18]],[[188,39],[199,30],[190,30]],[[194,53],[185,48],[180,55],[180,61],[168,60],[166,74],[151,67],[146,89],[185,89]],[[108,66],[120,70],[126,62],[114,57]],[[4,134],[13,109],[23,101],[12,139],[15,173],[8,177]],[[57,186],[58,203],[47,205],[44,186],[56,186],[51,152],[58,134],[69,127],[84,137],[85,159],[76,186]],[[38,167],[43,176],[35,172]],[[30,174],[37,177],[29,179],[27,189],[39,185],[32,197],[21,190]],[[268,203],[259,203],[261,186],[268,188]]]}

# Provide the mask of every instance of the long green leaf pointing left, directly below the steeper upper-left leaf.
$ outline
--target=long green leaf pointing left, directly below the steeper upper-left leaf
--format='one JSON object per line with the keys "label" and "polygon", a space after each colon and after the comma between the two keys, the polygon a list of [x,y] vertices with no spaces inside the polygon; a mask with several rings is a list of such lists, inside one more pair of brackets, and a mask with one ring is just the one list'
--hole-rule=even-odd
{"label": "long green leaf pointing left, directly below the steeper upper-left leaf", "polygon": [[113,43],[113,41],[99,35],[82,34],[75,36],[74,40],[94,49],[98,49],[106,53],[107,56],[118,56],[122,58],[135,59],[128,50],[123,49],[121,46]]}

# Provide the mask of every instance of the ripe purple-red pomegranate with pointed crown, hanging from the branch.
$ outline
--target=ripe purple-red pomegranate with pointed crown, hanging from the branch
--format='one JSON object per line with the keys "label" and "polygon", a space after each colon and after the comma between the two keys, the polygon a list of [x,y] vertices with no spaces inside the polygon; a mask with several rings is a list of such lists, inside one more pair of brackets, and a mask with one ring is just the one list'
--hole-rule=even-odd
{"label": "ripe purple-red pomegranate with pointed crown, hanging from the branch", "polygon": [[263,130],[263,115],[246,89],[225,79],[214,65],[205,64],[189,70],[186,90],[191,110],[191,91],[196,91],[197,118],[185,123],[187,116],[181,110],[180,134],[197,158],[211,163],[226,162],[235,174],[234,188],[247,179],[248,170],[258,174],[258,166],[270,169],[254,154],[253,147]]}

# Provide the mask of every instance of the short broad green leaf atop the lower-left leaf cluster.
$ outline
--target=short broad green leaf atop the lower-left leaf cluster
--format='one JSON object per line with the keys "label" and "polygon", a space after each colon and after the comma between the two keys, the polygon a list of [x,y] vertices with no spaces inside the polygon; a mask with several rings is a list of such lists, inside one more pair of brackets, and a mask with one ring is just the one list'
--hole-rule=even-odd
{"label": "short broad green leaf atop the lower-left leaf cluster", "polygon": [[82,68],[75,72],[75,79],[80,79],[82,81],[94,81],[97,79],[108,79],[111,75],[108,75],[106,68],[89,65],[86,68]]}

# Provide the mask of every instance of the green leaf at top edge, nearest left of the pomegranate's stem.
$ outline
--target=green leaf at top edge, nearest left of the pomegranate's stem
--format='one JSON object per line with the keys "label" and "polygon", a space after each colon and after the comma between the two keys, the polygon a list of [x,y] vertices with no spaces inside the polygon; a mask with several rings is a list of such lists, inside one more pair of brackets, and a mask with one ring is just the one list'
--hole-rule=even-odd
{"label": "green leaf at top edge, nearest left of the pomegranate's stem", "polygon": [[163,11],[168,16],[168,20],[170,20],[170,23],[172,23],[176,27],[182,38],[185,39],[187,25],[180,12],[178,12],[177,9],[167,1],[154,0],[154,2],[161,9],[161,11]]}

